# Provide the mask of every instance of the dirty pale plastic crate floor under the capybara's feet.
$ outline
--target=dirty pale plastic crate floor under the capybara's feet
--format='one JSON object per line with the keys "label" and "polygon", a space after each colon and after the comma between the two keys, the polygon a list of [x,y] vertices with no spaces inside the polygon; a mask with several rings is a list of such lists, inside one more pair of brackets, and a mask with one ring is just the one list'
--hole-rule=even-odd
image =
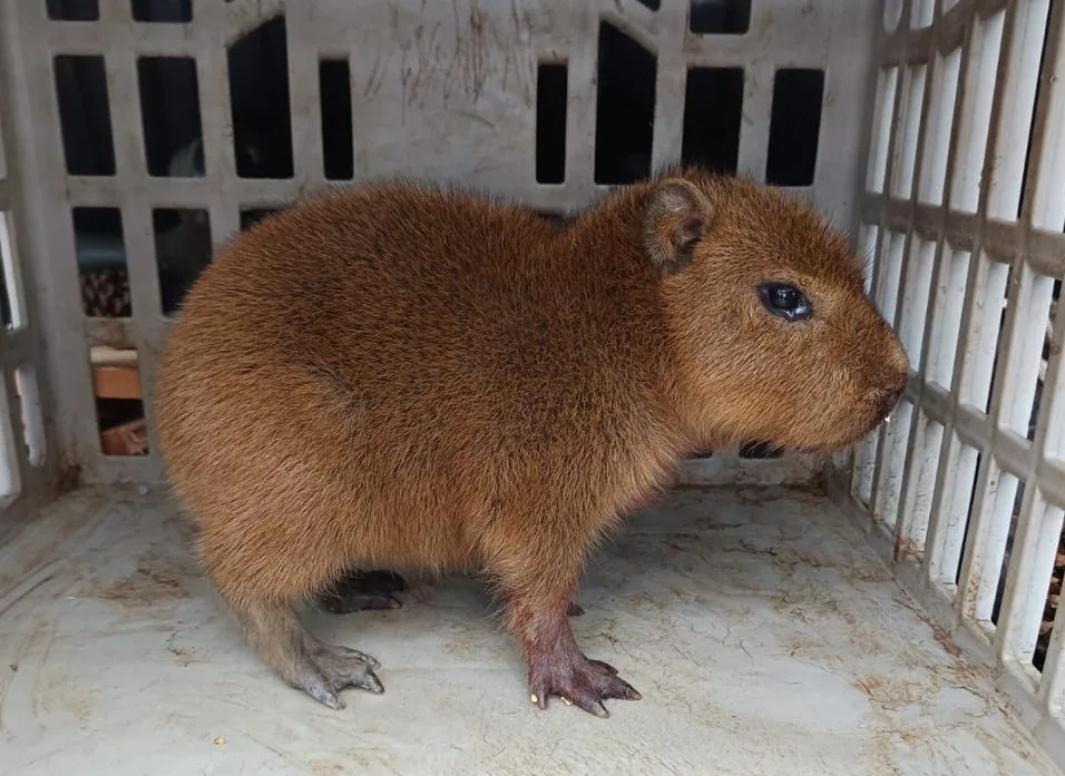
{"label": "dirty pale plastic crate floor under the capybara's feet", "polygon": [[677,491],[596,556],[577,638],[643,694],[609,719],[532,707],[463,578],[409,578],[399,610],[310,612],[383,664],[383,696],[329,710],[258,661],[187,539],[144,489],[68,495],[7,531],[0,773],[1057,773],[817,495]]}

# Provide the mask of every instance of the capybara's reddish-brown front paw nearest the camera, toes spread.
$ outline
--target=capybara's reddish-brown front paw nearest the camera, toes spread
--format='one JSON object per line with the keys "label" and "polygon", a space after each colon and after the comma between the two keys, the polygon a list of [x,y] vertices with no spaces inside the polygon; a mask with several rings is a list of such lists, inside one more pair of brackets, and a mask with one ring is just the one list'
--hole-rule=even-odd
{"label": "capybara's reddish-brown front paw nearest the camera, toes spread", "polygon": [[539,660],[529,668],[531,700],[547,708],[549,696],[558,696],[567,706],[579,706],[597,717],[609,717],[603,701],[608,698],[639,700],[632,685],[609,664],[589,660],[579,652],[556,660]]}

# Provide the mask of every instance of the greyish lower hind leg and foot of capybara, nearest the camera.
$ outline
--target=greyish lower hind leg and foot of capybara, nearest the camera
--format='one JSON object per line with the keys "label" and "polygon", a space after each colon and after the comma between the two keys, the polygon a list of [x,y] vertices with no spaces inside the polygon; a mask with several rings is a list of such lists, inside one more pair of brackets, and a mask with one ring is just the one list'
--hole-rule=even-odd
{"label": "greyish lower hind leg and foot of capybara, nearest the camera", "polygon": [[320,704],[344,708],[339,692],[359,687],[375,695],[384,692],[373,672],[380,664],[369,655],[346,647],[324,645],[303,628],[289,603],[234,606],[248,639],[263,660],[273,666],[293,687]]}

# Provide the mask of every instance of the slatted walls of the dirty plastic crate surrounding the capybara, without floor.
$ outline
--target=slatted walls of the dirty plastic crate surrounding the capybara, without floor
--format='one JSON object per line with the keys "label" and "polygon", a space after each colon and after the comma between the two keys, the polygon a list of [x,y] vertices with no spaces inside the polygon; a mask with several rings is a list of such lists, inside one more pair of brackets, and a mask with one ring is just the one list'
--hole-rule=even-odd
{"label": "slatted walls of the dirty plastic crate surrounding the capybara, without floor", "polygon": [[[837,465],[714,451],[688,481],[824,475],[1065,765],[1061,2],[20,0],[0,28],[0,519],[159,480],[172,286],[256,213],[402,174],[558,214],[702,160],[853,234],[916,376]],[[129,310],[87,314],[90,275]],[[130,419],[145,454],[107,454]]]}

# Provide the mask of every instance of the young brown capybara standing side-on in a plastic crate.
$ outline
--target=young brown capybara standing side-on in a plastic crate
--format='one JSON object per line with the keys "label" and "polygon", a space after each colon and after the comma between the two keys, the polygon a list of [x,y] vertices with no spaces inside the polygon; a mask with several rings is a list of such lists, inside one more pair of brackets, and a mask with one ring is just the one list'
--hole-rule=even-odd
{"label": "young brown capybara standing side-on in a plastic crate", "polygon": [[351,569],[498,586],[531,698],[639,695],[567,620],[586,553],[695,450],[843,448],[907,382],[846,238],[769,187],[671,169],[569,224],[411,183],[261,222],[202,275],[155,395],[207,573],[332,708],[378,661],[294,605]]}

